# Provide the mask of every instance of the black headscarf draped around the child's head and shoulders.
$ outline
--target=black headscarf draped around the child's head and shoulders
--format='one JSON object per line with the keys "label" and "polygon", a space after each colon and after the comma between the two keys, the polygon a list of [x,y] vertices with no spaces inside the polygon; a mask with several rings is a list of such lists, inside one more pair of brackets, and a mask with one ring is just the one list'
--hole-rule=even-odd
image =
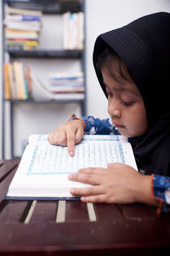
{"label": "black headscarf draped around the child's head and shoulders", "polygon": [[170,14],[146,15],[99,35],[94,45],[94,68],[104,92],[96,62],[108,46],[126,64],[146,108],[150,129],[143,137],[135,138],[137,165],[146,174],[170,176]]}

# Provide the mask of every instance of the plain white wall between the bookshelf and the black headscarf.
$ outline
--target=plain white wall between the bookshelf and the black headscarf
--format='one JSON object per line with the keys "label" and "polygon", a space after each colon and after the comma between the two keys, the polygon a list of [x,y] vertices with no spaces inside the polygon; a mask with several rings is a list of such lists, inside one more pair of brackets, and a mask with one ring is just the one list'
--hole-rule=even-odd
{"label": "plain white wall between the bookshelf and the black headscarf", "polygon": [[170,12],[169,0],[86,0],[88,115],[107,117],[107,102],[94,73],[92,55],[100,33],[110,31],[144,15]]}

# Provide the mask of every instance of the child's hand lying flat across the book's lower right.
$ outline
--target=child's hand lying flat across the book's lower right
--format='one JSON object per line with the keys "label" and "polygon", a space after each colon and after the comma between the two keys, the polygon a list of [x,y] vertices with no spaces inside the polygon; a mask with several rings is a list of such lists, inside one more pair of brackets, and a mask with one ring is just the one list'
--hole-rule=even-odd
{"label": "child's hand lying flat across the book's lower right", "polygon": [[94,185],[73,188],[72,195],[81,196],[84,202],[134,203],[157,205],[151,198],[150,176],[141,175],[131,166],[109,164],[105,168],[86,168],[69,176],[71,181]]}

